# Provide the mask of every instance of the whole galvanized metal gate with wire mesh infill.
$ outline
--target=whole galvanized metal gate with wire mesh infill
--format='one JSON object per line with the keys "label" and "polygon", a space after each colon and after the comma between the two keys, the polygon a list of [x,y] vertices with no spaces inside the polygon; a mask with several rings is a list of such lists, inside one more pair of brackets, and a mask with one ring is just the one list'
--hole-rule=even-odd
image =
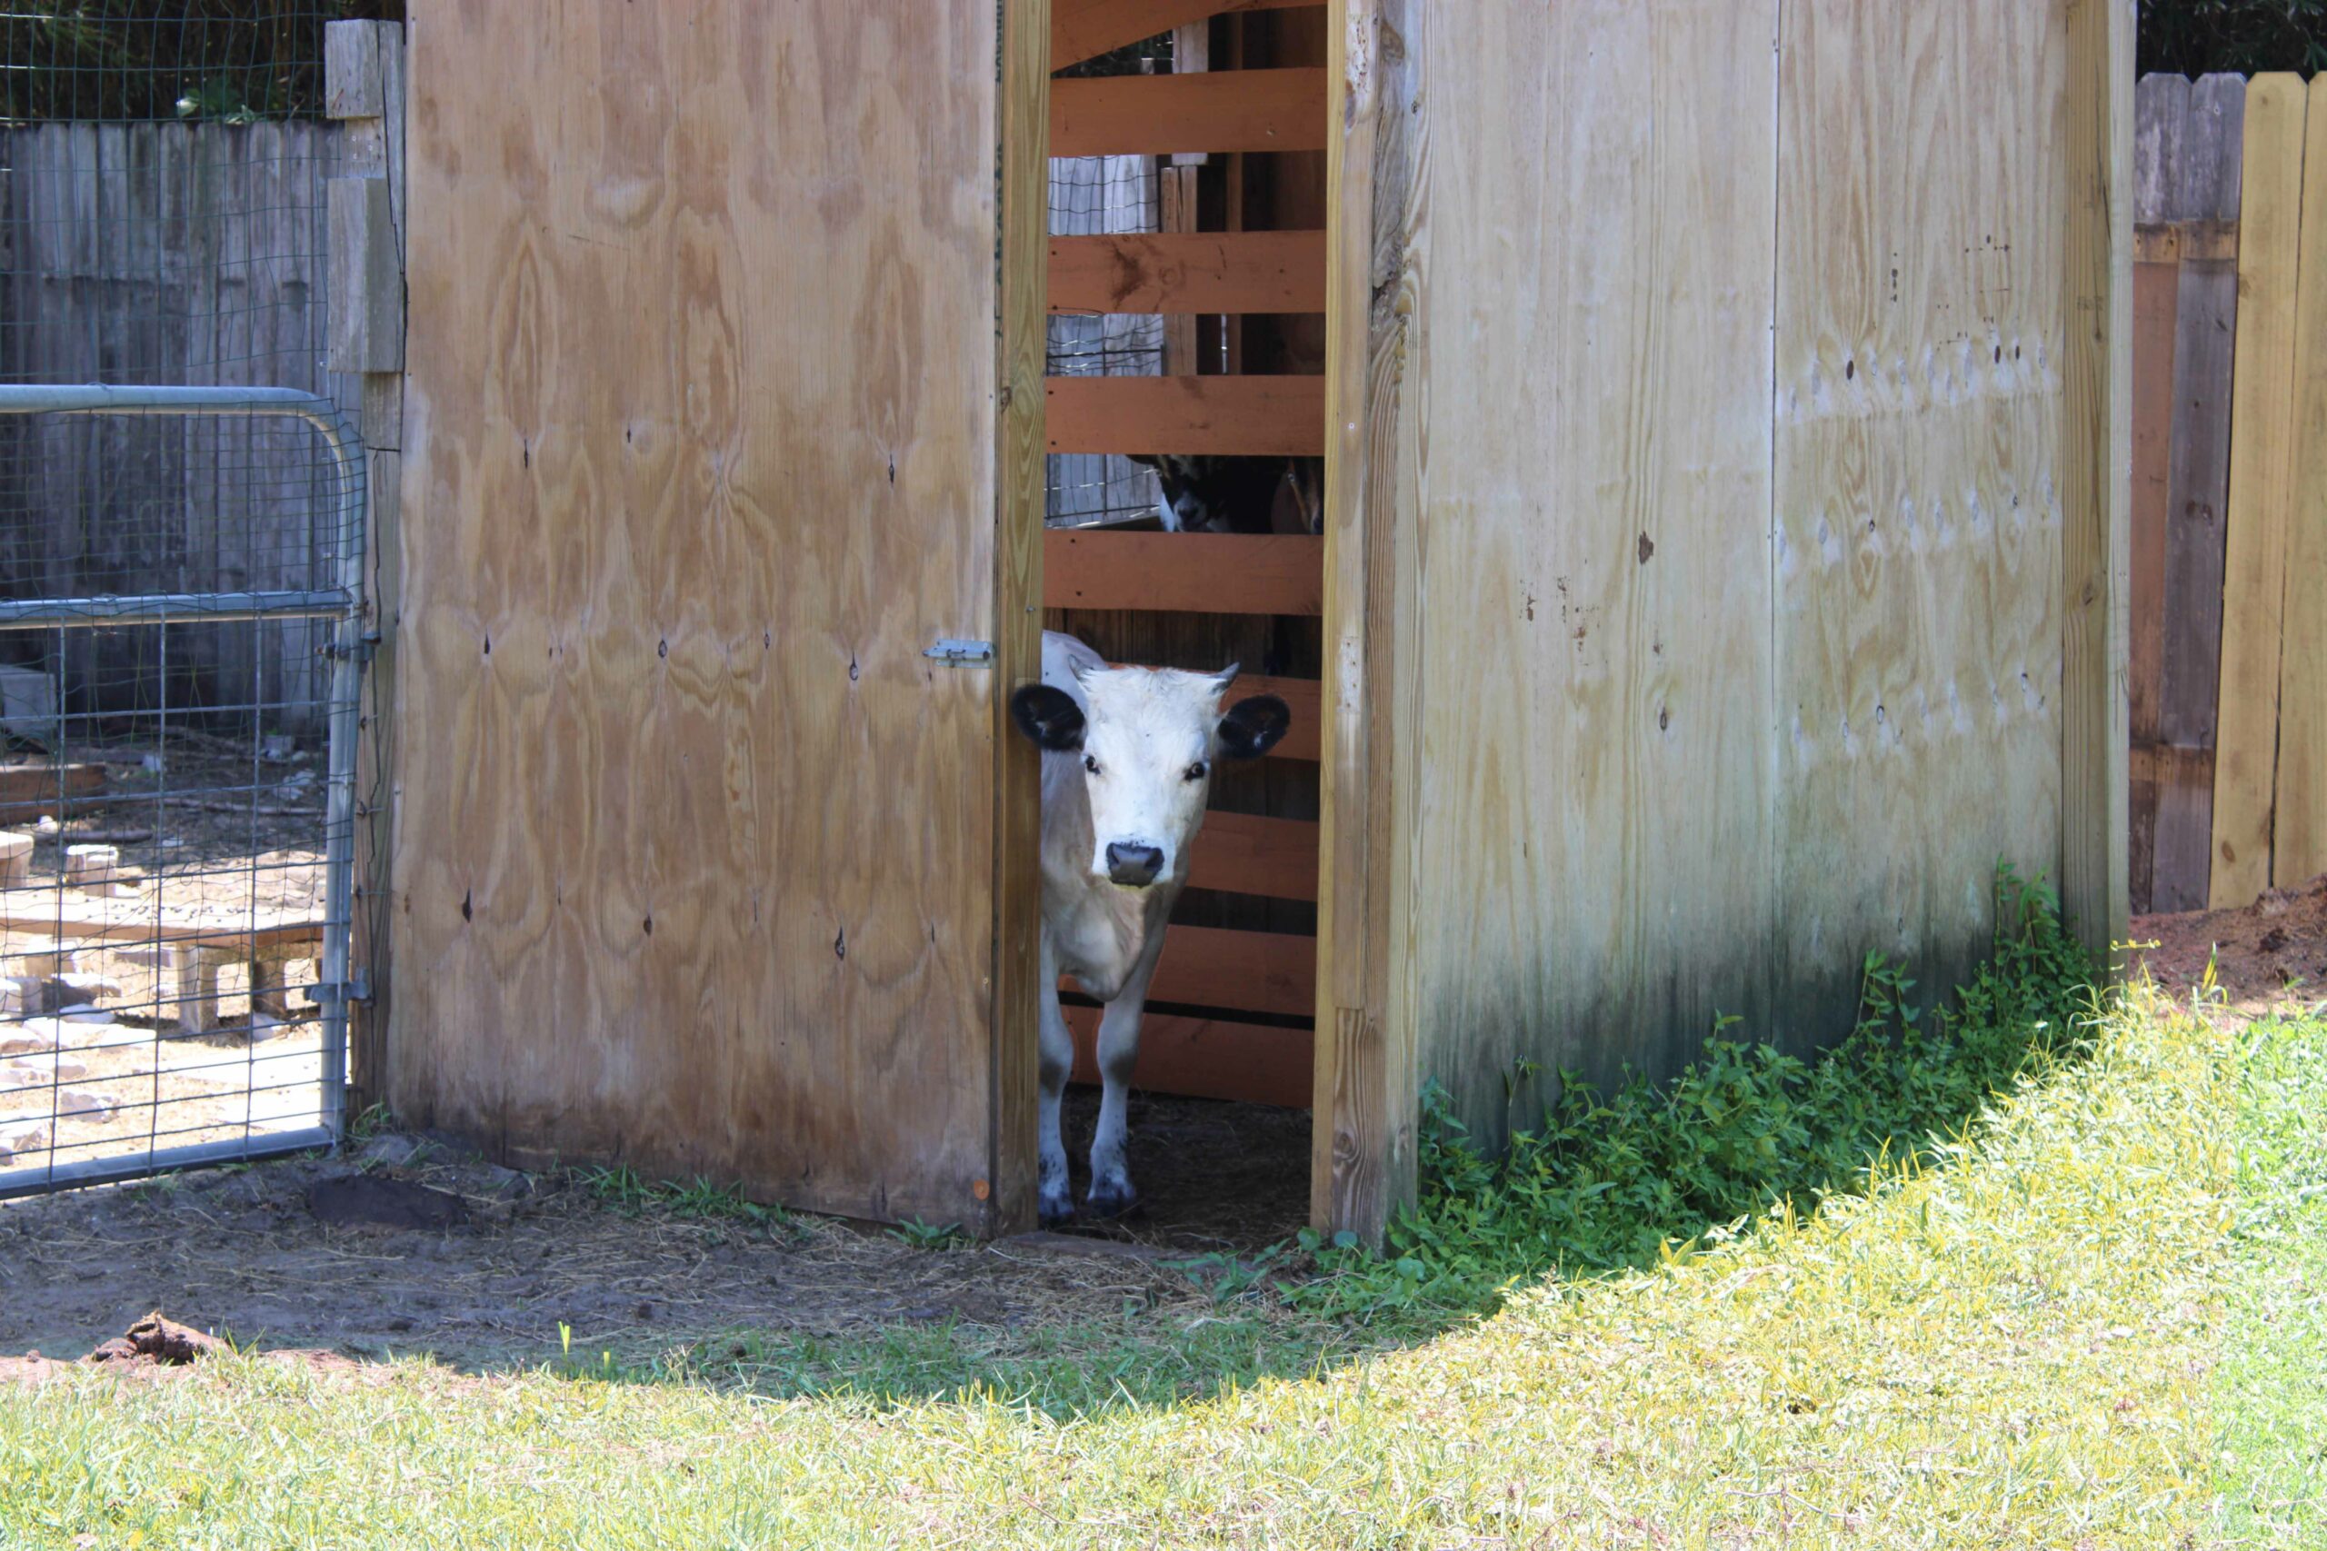
{"label": "whole galvanized metal gate with wire mesh infill", "polygon": [[[296,388],[0,386],[0,560],[151,488],[184,491],[156,530],[207,500],[289,537],[0,600],[0,1198],[342,1132],[363,446]],[[105,574],[86,528],[65,570]]]}

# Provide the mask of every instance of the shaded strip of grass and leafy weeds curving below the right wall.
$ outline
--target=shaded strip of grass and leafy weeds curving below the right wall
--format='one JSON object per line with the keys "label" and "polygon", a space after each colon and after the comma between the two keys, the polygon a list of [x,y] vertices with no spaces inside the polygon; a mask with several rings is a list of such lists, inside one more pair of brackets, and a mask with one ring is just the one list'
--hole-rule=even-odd
{"label": "shaded strip of grass and leafy weeds curving below the right wall", "polygon": [[[1568,1077],[1540,1125],[1475,1149],[1431,1095],[1422,1200],[1385,1253],[1282,1244],[1243,1260],[1129,1270],[1119,1314],[991,1325],[940,1318],[870,1335],[735,1332],[624,1360],[561,1353],[603,1381],[710,1381],[873,1407],[1001,1398],[1070,1416],[1203,1400],[1268,1377],[1322,1374],[1494,1314],[1517,1286],[1652,1265],[1666,1249],[1864,1191],[1869,1165],[1929,1160],[2031,1065],[2078,1051],[2094,972],[2041,884],[1997,881],[1987,963],[1943,1012],[1871,956],[1857,1028],[1813,1063],[1720,1028],[1664,1084],[1613,1093]],[[1520,1091],[1531,1072],[1515,1072]],[[991,1253],[991,1251],[982,1251]]]}

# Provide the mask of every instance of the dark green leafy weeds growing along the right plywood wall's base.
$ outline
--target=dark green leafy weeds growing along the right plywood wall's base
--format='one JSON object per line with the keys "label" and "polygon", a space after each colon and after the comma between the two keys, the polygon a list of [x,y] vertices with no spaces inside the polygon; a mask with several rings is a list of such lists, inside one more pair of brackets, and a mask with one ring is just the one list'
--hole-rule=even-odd
{"label": "dark green leafy weeds growing along the right plywood wall's base", "polygon": [[[1440,1086],[1422,1095],[1422,1200],[1385,1235],[1301,1244],[1326,1272],[1298,1300],[1343,1316],[1436,1316],[1492,1307],[1517,1279],[1652,1265],[1771,1212],[1792,1216],[1885,1170],[1915,1170],[2029,1063],[2062,1053],[2092,1007],[2092,963],[2059,900],[1997,874],[1990,958],[1945,1012],[1917,1007],[1903,965],[1869,953],[1852,1032],[1815,1063],[1729,1037],[1666,1084],[1613,1093],[1559,1074],[1543,1123],[1489,1156]],[[1517,1072],[1517,1093],[1531,1072]]]}

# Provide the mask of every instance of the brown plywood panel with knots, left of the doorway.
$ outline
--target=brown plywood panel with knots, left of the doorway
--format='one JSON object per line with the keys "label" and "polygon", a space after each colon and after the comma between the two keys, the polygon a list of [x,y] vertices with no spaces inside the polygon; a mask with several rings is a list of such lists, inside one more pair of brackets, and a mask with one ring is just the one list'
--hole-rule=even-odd
{"label": "brown plywood panel with knots, left of the doorway", "polygon": [[412,5],[407,1121],[980,1221],[998,16]]}

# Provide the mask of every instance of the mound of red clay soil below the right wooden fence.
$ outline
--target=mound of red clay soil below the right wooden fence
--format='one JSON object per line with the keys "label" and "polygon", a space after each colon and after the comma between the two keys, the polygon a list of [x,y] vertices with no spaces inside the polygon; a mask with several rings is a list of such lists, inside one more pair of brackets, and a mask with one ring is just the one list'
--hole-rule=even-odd
{"label": "mound of red clay soil below the right wooden fence", "polygon": [[2134,965],[2176,1000],[2213,960],[2229,1012],[2264,1014],[2327,998],[2327,874],[2273,888],[2246,909],[2134,916]]}

